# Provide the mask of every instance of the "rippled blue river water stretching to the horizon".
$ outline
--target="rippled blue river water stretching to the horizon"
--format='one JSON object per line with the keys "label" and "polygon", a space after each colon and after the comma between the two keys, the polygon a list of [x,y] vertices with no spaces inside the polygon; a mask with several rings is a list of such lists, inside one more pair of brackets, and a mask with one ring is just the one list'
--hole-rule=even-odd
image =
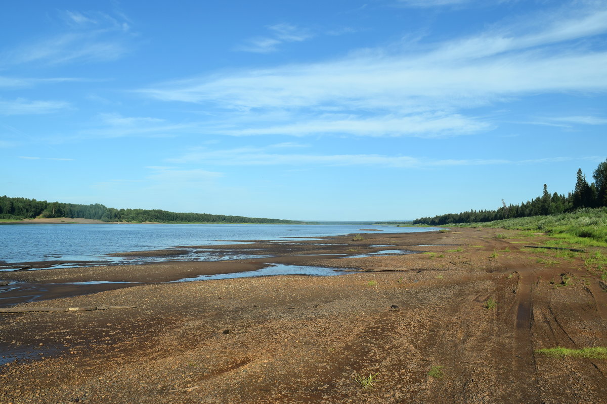
{"label": "rippled blue river water stretching to the horizon", "polygon": [[[376,226],[378,231],[360,231],[368,225],[137,225],[137,224],[19,224],[0,225],[0,261],[35,262],[101,260],[135,263],[107,257],[123,251],[160,250],[185,245],[220,245],[242,240],[289,242],[302,237],[337,236],[350,233],[413,233],[437,228]],[[309,240],[309,239],[306,239]],[[261,251],[258,253],[263,254]],[[251,251],[251,256],[254,255]],[[240,258],[240,257],[239,257]],[[146,257],[194,259],[194,257]],[[195,259],[226,259],[204,254]],[[233,258],[232,258],[233,259]]]}

